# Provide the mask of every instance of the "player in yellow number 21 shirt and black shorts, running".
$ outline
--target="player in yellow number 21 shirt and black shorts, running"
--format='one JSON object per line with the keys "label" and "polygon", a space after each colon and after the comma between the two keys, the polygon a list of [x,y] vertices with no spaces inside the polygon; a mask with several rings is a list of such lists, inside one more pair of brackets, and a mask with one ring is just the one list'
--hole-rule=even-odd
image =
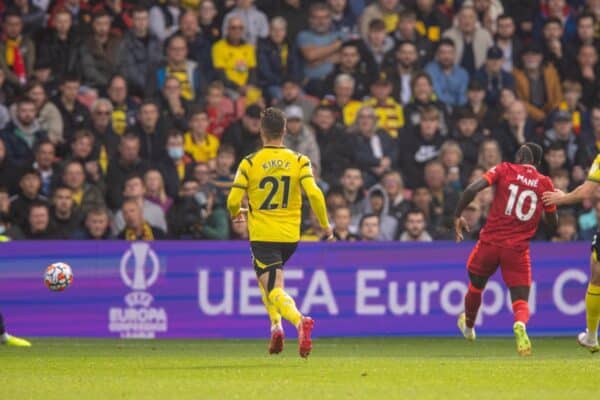
{"label": "player in yellow number 21 shirt and black shorts, running", "polygon": [[[303,316],[283,290],[282,271],[300,240],[302,190],[329,240],[333,231],[309,159],[283,146],[285,123],[280,110],[263,111],[260,134],[264,146],[240,162],[227,208],[234,221],[248,217],[254,269],[271,319],[269,352],[276,354],[283,349],[283,316],[298,329],[300,356],[307,357],[312,349],[314,321]],[[242,207],[244,195],[248,196],[248,209]]]}

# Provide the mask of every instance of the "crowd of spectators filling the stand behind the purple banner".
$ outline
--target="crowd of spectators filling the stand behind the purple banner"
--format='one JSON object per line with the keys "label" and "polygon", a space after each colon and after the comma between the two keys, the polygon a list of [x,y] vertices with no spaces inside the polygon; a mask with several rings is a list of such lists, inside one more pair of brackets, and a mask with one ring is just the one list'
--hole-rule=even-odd
{"label": "crowd of spectators filling the stand behind the purple banner", "polygon": [[[524,142],[562,190],[600,149],[600,0],[5,0],[0,21],[4,240],[247,238],[225,202],[268,106],[343,241],[451,239],[461,191]],[[536,239],[598,221],[600,194]]]}

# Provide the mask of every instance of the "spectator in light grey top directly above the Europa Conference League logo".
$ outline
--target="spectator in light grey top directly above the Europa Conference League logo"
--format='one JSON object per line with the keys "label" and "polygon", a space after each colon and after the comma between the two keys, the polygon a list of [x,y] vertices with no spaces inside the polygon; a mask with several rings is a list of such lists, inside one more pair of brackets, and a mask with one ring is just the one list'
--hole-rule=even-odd
{"label": "spectator in light grey top directly above the Europa Conference League logo", "polygon": [[127,202],[135,202],[143,213],[143,218],[150,225],[159,228],[163,232],[167,232],[167,222],[165,220],[165,213],[156,204],[146,200],[146,186],[144,180],[140,175],[130,175],[125,180],[123,187],[123,207],[114,216],[112,231],[114,234],[122,232],[123,228],[127,225],[125,215],[125,204]]}

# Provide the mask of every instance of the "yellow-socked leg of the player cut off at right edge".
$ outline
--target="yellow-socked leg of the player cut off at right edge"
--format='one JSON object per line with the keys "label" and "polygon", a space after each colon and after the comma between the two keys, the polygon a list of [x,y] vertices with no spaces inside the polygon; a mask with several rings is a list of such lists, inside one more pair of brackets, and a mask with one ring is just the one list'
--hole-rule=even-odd
{"label": "yellow-socked leg of the player cut off at right edge", "polygon": [[598,234],[592,241],[592,256],[590,257],[590,282],[585,294],[585,313],[587,330],[577,337],[580,345],[592,353],[600,350],[598,345],[598,321],[600,320],[600,260],[598,250]]}

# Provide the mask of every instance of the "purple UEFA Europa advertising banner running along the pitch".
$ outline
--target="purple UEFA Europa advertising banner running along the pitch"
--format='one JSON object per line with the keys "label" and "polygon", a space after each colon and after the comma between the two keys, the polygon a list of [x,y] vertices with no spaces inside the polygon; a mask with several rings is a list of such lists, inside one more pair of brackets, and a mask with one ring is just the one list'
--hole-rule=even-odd
{"label": "purple UEFA Europa advertising banner running along the pitch", "polygon": [[[456,335],[472,245],[303,243],[285,267],[286,290],[315,318],[316,336]],[[531,258],[530,332],[578,332],[589,244],[533,244]],[[43,273],[57,261],[70,264],[75,279],[55,293]],[[250,338],[269,331],[243,242],[3,243],[0,311],[23,336]],[[480,333],[510,333],[510,297],[499,274],[478,324]]]}

